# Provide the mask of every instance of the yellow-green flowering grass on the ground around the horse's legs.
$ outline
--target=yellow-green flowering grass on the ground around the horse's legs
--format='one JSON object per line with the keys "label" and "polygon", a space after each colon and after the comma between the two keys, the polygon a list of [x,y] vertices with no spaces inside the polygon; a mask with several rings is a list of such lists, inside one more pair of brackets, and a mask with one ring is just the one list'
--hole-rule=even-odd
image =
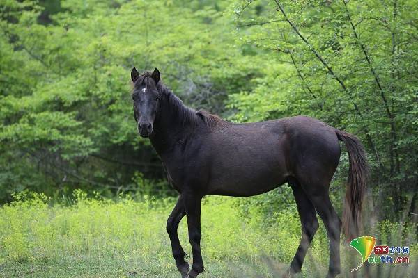
{"label": "yellow-green flowering grass on the ground around the horse's legs", "polygon": [[[50,204],[43,195],[23,194],[0,208],[0,277],[180,277],[165,231],[174,199],[103,200],[82,192],[75,196],[72,204],[64,205]],[[277,213],[276,221],[266,224],[257,206],[242,215],[237,200],[203,200],[202,277],[278,277],[299,243],[297,211]],[[186,225],[181,222],[179,234],[190,254]],[[391,225],[380,226],[396,227]],[[320,227],[298,277],[325,277],[328,241],[323,224]],[[392,272],[412,277],[416,250],[414,245],[408,268],[385,265],[386,277],[398,277]],[[357,256],[341,245],[342,277],[359,263]]]}

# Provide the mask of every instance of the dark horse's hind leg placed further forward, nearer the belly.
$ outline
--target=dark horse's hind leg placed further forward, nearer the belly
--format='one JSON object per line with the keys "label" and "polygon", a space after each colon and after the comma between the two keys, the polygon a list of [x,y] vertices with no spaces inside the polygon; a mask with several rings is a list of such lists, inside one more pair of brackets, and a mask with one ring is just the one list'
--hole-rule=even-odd
{"label": "dark horse's hind leg placed further forward, nearer the belly", "polygon": [[[304,258],[307,254],[307,250],[311,245],[314,235],[318,230],[318,219],[316,218],[316,211],[314,205],[311,203],[306,193],[300,186],[300,183],[295,179],[289,181],[289,185],[293,190],[293,195],[295,196],[297,211],[300,215],[300,222],[302,224],[302,238],[300,240],[299,247],[293,260],[291,266],[286,272],[286,275],[293,275],[299,273],[302,270],[302,264]],[[284,275],[284,277],[286,277]]]}

